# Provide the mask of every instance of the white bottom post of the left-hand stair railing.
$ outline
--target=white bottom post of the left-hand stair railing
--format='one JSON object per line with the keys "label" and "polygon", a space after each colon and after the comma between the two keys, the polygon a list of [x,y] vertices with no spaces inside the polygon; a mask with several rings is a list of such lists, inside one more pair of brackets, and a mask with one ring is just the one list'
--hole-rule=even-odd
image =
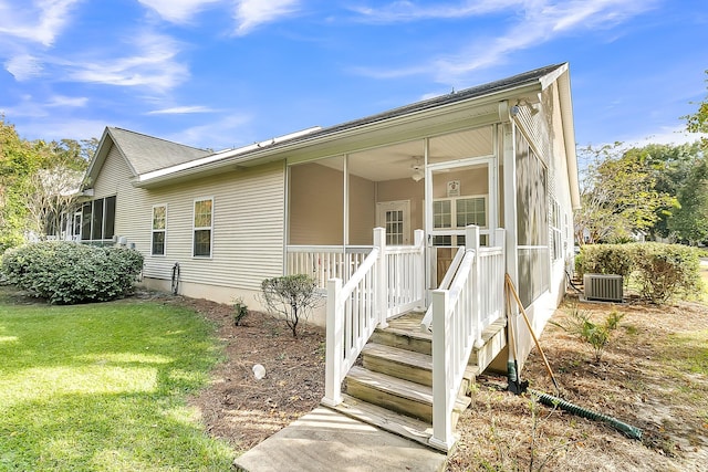
{"label": "white bottom post of the left-hand stair railing", "polygon": [[322,403],[334,407],[342,402],[342,363],[344,361],[344,304],[341,303],[342,280],[327,281],[327,319],[324,398]]}

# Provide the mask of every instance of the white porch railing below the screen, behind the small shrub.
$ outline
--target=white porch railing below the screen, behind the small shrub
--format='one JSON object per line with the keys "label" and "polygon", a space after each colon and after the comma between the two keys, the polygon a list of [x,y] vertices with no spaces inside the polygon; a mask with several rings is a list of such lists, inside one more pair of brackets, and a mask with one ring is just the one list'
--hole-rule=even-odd
{"label": "white porch railing below the screen, behind the small shrub", "polygon": [[326,290],[330,279],[347,281],[371,251],[371,245],[289,245],[285,273],[308,274]]}

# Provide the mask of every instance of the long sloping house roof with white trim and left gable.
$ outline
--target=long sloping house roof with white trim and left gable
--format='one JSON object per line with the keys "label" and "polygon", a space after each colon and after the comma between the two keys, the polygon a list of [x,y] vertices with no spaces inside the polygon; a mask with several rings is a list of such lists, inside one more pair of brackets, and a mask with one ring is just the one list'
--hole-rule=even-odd
{"label": "long sloping house roof with white trim and left gable", "polygon": [[[507,78],[416,102],[364,118],[326,128],[308,128],[262,143],[219,153],[197,149],[122,128],[108,127],[98,146],[97,156],[94,156],[94,161],[92,161],[88,168],[87,176],[90,179],[95,178],[95,174],[97,174],[103,165],[103,160],[110,148],[110,146],[104,146],[103,143],[106,135],[115,143],[131,166],[136,177],[134,185],[142,187],[144,185],[150,185],[150,182],[166,182],[174,178],[185,178],[202,171],[214,171],[230,162],[246,164],[249,161],[254,164],[261,160],[266,161],[269,158],[274,158],[279,153],[308,147],[317,143],[329,143],[348,133],[366,133],[377,126],[387,126],[388,123],[406,119],[408,116],[445,113],[445,109],[457,106],[458,104],[464,105],[467,102],[508,99],[511,94],[525,90],[527,87],[538,87],[539,91],[544,90],[549,84],[559,80],[559,77],[563,78],[563,87],[566,88],[566,93],[564,92],[564,96],[562,97],[566,105],[565,115],[566,118],[569,118],[564,127],[568,146],[566,153],[569,153],[571,160],[574,161],[575,149],[572,102],[570,101],[570,83],[566,80],[566,72],[568,63],[546,65]],[[563,120],[565,122],[565,119]],[[101,156],[102,153],[103,156]]]}

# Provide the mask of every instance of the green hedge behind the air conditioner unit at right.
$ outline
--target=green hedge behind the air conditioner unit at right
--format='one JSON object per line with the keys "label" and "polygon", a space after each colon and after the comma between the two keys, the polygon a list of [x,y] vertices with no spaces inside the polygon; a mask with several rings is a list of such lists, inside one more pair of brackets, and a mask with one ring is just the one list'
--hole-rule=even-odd
{"label": "green hedge behind the air conditioner unit at right", "polygon": [[656,242],[584,245],[575,259],[575,270],[585,273],[620,274],[634,277],[639,295],[662,304],[675,296],[700,293],[700,260],[695,248]]}

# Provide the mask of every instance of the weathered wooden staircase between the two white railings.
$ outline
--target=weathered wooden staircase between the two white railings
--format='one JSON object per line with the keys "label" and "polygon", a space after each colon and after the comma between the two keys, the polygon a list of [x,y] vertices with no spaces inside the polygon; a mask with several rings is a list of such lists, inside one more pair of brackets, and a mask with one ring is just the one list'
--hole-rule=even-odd
{"label": "weathered wooden staircase between the two white railings", "polygon": [[[433,434],[433,336],[420,331],[423,315],[409,312],[389,321],[387,328],[376,329],[344,380],[344,401],[334,409],[435,449],[428,442]],[[454,424],[471,403],[477,375],[506,346],[504,326],[504,321],[492,324],[482,334],[485,345],[472,352],[458,391]]]}

